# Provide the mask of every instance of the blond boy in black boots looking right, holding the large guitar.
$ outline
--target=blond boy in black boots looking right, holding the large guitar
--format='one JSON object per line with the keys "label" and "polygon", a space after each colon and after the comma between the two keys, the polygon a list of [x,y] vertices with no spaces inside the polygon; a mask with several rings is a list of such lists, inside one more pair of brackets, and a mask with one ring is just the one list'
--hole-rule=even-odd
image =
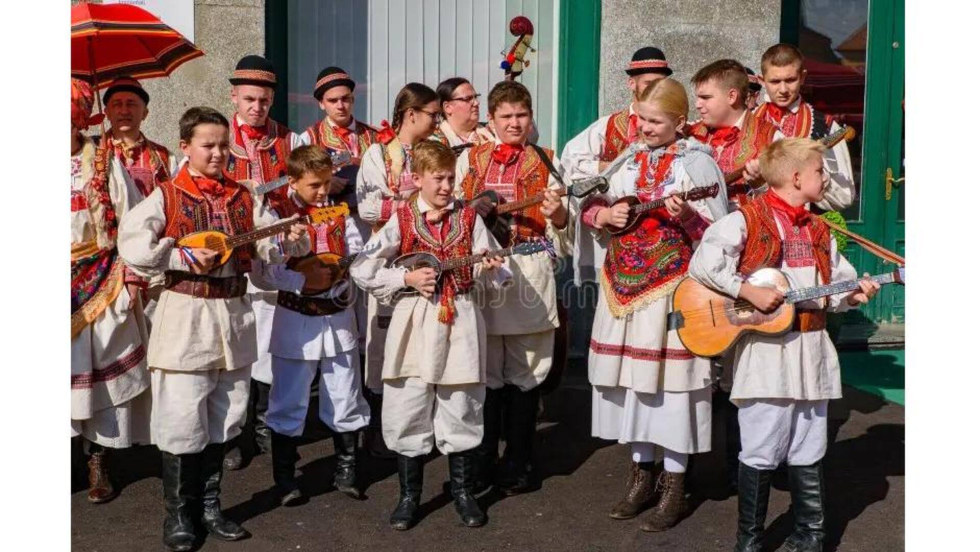
{"label": "blond boy in black boots looking right, holding the large guitar", "polygon": [[[809,138],[766,147],[760,173],[769,189],[708,228],[691,260],[691,276],[766,313],[784,295],[745,280],[760,269],[782,271],[794,289],[855,278],[829,228],[805,207],[823,198],[824,149]],[[761,550],[769,479],[784,461],[796,526],[780,550],[823,549],[827,401],[841,397],[840,365],[825,330],[826,313],[867,303],[880,287],[870,279],[858,283],[852,292],[797,303],[790,332],[748,334],[735,345],[731,400],[739,408],[742,441],[737,552]]]}

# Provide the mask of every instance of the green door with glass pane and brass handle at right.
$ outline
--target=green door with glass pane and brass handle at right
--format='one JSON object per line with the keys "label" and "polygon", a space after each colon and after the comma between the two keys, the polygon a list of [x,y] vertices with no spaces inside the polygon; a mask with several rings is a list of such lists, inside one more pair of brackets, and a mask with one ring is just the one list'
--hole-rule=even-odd
{"label": "green door with glass pane and brass handle at right", "polygon": [[[858,130],[849,144],[858,193],[844,212],[848,227],[905,255],[905,3],[784,0],[783,16],[782,40],[813,64],[805,99]],[[894,269],[853,242],[844,254],[858,274]],[[905,288],[891,285],[846,323],[900,323],[904,315]]]}

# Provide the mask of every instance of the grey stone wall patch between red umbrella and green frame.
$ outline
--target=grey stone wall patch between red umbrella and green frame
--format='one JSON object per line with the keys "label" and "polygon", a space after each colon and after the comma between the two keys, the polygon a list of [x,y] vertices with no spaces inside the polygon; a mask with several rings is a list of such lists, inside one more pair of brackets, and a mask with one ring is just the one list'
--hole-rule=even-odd
{"label": "grey stone wall patch between red umbrella and green frame", "polygon": [[143,132],[174,151],[177,121],[187,108],[209,106],[231,113],[228,76],[243,56],[266,51],[266,0],[194,0],[194,37],[204,56],[170,77],[142,81],[150,94]]}

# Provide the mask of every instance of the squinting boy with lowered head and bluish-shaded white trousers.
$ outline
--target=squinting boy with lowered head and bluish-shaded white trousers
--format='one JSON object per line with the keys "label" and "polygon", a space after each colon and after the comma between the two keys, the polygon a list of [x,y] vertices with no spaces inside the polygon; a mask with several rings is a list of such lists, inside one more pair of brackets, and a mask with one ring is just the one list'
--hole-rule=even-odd
{"label": "squinting boy with lowered head and bluish-shaded white trousers", "polygon": [[[308,215],[327,201],[332,167],[327,151],[301,146],[286,162],[290,197],[278,206],[283,218]],[[302,493],[296,483],[296,446],[310,405],[310,384],[319,372],[319,419],[333,432],[336,459],[334,485],[360,498],[357,481],[358,432],[370,411],[361,394],[358,326],[352,289],[346,278],[332,285],[328,276],[343,276],[336,262],[359,253],[364,242],[352,217],[334,217],[309,226],[312,254],[332,261],[303,272],[290,265],[265,265],[262,287],[278,290],[272,320],[270,353],[272,388],[267,423],[272,430],[272,478],[283,505]],[[325,254],[325,255],[324,255]],[[350,258],[347,259],[348,261]],[[255,277],[255,275],[253,275]],[[332,279],[332,278],[331,278]],[[324,290],[325,289],[325,290]]]}

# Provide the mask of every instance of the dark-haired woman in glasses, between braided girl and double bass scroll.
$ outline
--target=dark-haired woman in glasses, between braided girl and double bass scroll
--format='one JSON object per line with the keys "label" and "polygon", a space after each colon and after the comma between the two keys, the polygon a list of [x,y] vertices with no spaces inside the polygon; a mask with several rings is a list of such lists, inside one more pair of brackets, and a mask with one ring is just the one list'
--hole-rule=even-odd
{"label": "dark-haired woman in glasses, between braided girl and double bass scroll", "polygon": [[457,155],[466,144],[478,146],[493,141],[493,132],[480,123],[480,96],[473,85],[462,76],[453,76],[439,83],[435,89],[442,106],[443,121],[432,134],[438,140],[454,148]]}

